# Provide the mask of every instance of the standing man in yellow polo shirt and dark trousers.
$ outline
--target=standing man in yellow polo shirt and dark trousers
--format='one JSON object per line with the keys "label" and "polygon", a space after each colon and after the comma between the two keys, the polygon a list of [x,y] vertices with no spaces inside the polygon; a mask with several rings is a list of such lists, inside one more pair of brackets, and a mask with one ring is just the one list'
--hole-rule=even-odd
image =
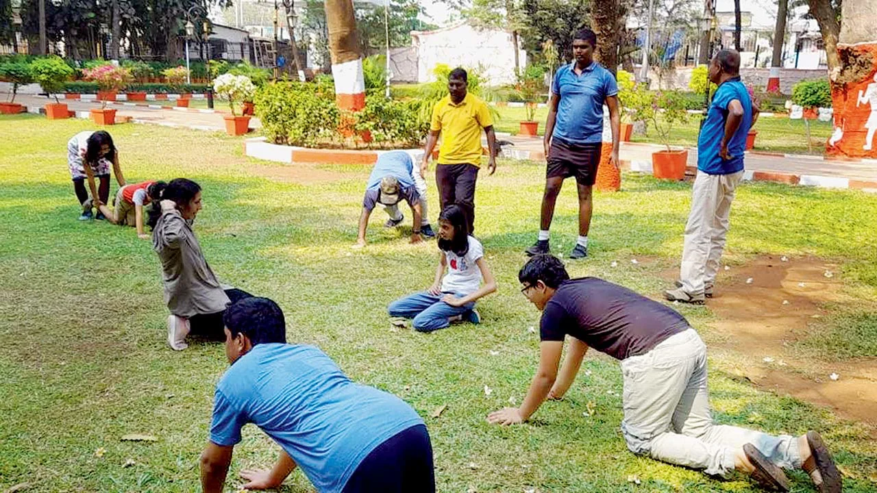
{"label": "standing man in yellow polo shirt and dark trousers", "polygon": [[481,129],[487,133],[488,172],[496,171],[496,132],[488,105],[477,96],[467,94],[468,75],[462,68],[454,68],[447,78],[450,93],[432,108],[430,134],[426,138],[424,161],[420,175],[426,176],[432,149],[439,134],[439,164],[436,165],[436,184],[442,210],[450,204],[460,205],[467,214],[469,233],[475,220],[475,180],[481,167]]}

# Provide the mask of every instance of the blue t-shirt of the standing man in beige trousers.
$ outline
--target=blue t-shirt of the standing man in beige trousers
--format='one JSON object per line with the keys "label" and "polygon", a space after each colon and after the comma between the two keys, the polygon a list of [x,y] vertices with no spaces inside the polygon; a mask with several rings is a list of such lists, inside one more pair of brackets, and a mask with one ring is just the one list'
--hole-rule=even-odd
{"label": "blue t-shirt of the standing man in beige trousers", "polygon": [[[724,138],[724,124],[728,118],[728,105],[737,99],[743,105],[743,121],[737,132],[728,142],[730,160],[718,155]],[[731,175],[743,170],[743,152],[746,149],[746,134],[752,126],[752,99],[746,86],[735,77],[722,83],[709,104],[707,119],[703,122],[701,135],[697,139],[697,169],[709,175]]]}

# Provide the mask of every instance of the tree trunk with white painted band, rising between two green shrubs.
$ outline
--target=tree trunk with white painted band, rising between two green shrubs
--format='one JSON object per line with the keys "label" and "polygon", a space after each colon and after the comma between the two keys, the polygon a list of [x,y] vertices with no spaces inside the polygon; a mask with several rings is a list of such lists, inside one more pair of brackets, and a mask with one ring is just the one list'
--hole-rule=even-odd
{"label": "tree trunk with white painted band, rising between two green shrubs", "polygon": [[324,4],[332,75],[335,78],[335,100],[342,109],[359,111],[366,105],[366,88],[353,1],[325,0]]}

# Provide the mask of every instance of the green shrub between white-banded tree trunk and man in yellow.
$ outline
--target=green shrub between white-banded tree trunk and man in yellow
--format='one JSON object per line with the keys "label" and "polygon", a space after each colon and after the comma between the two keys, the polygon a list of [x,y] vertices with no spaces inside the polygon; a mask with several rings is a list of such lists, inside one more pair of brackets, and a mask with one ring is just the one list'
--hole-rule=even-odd
{"label": "green shrub between white-banded tree trunk and man in yellow", "polygon": [[417,118],[417,102],[396,101],[383,95],[366,97],[366,107],[353,114],[356,132],[367,131],[374,144],[420,146],[429,124]]}

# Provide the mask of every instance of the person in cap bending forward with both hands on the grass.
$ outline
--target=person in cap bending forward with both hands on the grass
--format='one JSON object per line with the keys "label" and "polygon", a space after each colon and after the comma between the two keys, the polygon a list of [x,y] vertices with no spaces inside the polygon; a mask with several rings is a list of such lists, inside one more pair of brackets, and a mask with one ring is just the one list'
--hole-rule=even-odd
{"label": "person in cap bending forward with both hands on the grass", "polygon": [[385,227],[395,227],[404,219],[399,211],[399,202],[405,199],[411,207],[414,223],[411,229],[411,243],[420,242],[420,235],[434,238],[430,220],[426,217],[426,182],[420,176],[420,170],[413,165],[411,156],[405,151],[389,151],[378,156],[371,175],[366,183],[366,195],[362,198],[360,213],[360,230],[356,237],[355,248],[366,246],[366,230],[368,217],[374,206],[381,204],[387,211],[389,219]]}

